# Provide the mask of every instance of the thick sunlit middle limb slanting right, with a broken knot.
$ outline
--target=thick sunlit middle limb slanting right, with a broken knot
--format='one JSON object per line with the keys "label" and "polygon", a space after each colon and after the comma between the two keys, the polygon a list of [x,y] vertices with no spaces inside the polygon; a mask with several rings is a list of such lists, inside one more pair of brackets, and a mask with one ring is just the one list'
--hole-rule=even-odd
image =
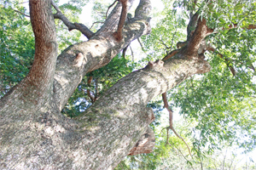
{"label": "thick sunlit middle limb slanting right, with a broken knot", "polygon": [[[119,5],[118,3],[113,10],[121,9]],[[116,22],[111,18],[113,15],[116,16],[116,13],[117,11],[114,11],[108,16],[108,23],[105,26]],[[55,72],[55,98],[59,100],[57,105],[59,105],[60,110],[67,103],[67,99],[73,94],[75,88],[77,88],[81,77],[84,77],[90,71],[107,65],[131,41],[148,33],[150,26],[146,20],[133,20],[127,23],[122,33],[124,41],[121,42],[115,41],[112,32],[109,32],[112,29],[109,29],[102,28],[90,38],[90,41],[74,44],[58,57]],[[73,86],[70,86],[69,82],[73,82]]]}

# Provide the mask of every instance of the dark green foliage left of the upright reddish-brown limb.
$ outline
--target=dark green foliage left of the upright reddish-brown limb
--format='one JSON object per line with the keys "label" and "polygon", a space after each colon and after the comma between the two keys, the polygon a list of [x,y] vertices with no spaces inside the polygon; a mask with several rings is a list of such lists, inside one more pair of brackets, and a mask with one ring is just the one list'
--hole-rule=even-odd
{"label": "dark green foliage left of the upright reddish-brown limb", "polygon": [[30,20],[18,2],[0,3],[0,96],[20,82],[32,66],[34,37]]}

